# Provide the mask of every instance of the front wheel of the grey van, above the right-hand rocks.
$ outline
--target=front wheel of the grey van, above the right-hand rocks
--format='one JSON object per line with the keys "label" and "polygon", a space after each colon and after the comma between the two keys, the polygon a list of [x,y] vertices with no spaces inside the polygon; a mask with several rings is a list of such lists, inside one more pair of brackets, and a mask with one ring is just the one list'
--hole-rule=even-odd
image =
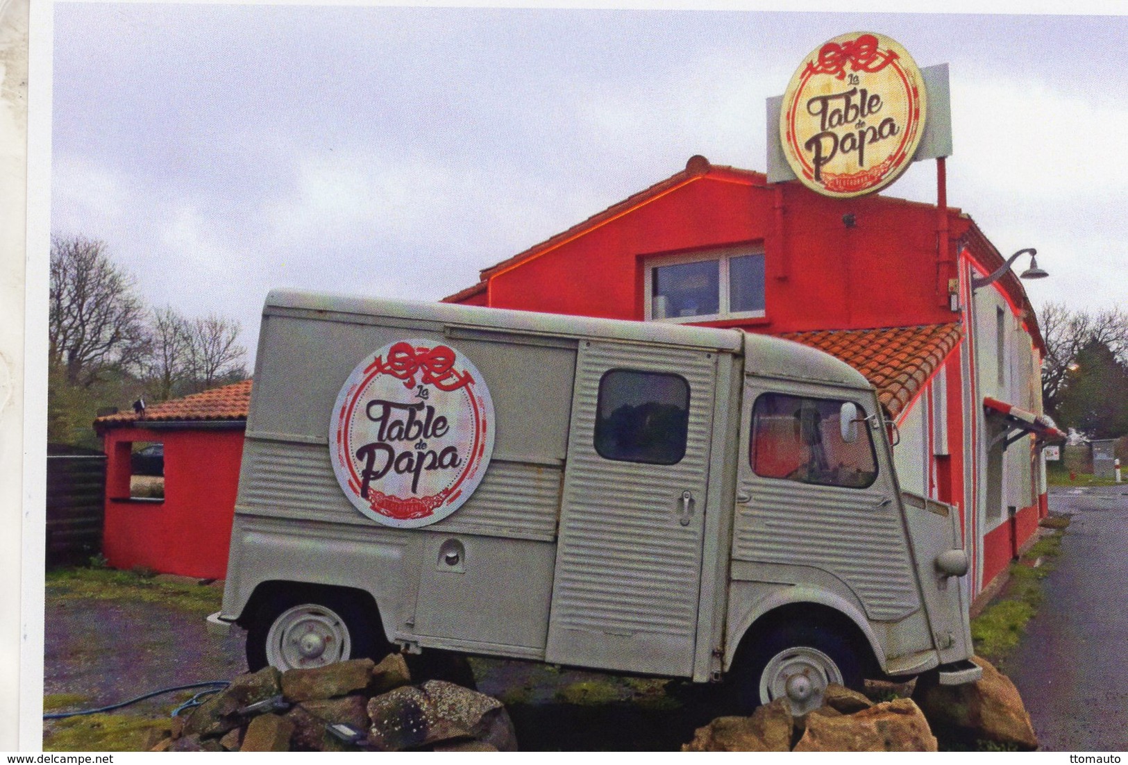
{"label": "front wheel of the grey van, above the right-hand rocks", "polygon": [[793,714],[822,706],[831,683],[855,691],[864,687],[862,665],[849,642],[834,632],[804,626],[777,627],[757,645],[740,672],[742,706],[755,707],[785,697]]}

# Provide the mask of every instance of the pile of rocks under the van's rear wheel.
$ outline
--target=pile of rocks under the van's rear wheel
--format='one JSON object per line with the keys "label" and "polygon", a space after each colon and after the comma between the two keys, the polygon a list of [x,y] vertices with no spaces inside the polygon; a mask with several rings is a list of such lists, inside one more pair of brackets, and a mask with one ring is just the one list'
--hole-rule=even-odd
{"label": "pile of rocks under the van's rear wheel", "polygon": [[411,685],[404,658],[240,675],[152,751],[515,751],[501,702],[443,680]]}

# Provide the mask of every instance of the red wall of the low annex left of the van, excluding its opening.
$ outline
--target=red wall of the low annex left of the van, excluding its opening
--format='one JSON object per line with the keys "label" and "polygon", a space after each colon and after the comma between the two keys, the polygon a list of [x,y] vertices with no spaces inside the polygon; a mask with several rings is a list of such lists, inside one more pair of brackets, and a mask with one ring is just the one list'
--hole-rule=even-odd
{"label": "red wall of the low annex left of the van, excluding its opening", "polygon": [[[222,579],[243,459],[243,430],[147,430],[105,433],[106,525],[103,552],[115,569]],[[165,501],[130,494],[130,442],[165,445]]]}

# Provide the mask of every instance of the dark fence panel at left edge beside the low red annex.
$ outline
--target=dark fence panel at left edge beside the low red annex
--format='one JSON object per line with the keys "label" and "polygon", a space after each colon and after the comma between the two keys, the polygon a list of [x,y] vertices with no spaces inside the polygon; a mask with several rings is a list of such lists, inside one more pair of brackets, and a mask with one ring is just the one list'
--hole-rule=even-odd
{"label": "dark fence panel at left edge beside the low red annex", "polygon": [[86,563],[102,552],[106,455],[47,447],[47,565]]}

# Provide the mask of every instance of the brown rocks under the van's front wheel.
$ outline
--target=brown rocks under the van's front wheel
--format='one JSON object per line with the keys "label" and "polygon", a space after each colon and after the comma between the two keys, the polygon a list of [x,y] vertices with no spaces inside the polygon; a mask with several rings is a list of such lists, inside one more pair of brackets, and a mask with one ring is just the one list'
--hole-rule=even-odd
{"label": "brown rocks under the van's front wheel", "polygon": [[987,661],[978,683],[942,686],[922,682],[911,698],[873,703],[831,685],[823,705],[793,715],[786,698],[750,718],[717,718],[698,728],[684,751],[936,751],[934,730],[946,740],[990,741],[1002,748],[1038,748],[1014,684]]}

